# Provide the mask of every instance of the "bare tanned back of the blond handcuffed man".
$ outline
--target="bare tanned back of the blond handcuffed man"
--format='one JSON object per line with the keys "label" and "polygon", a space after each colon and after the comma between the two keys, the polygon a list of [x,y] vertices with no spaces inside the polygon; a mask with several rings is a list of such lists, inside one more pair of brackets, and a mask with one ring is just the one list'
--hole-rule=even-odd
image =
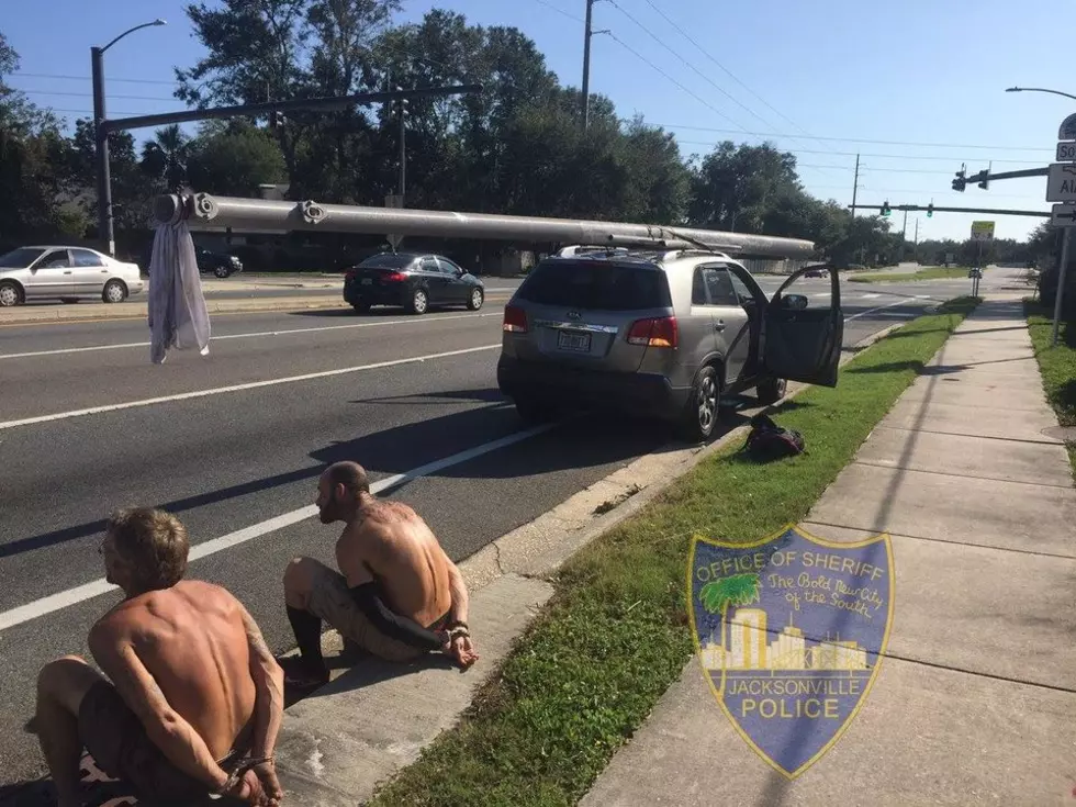
{"label": "bare tanned back of the blond handcuffed man", "polygon": [[107,671],[110,655],[121,652],[109,646],[131,648],[215,759],[249,740],[256,692],[243,617],[228,592],[181,581],[127,599],[90,632],[90,649]]}

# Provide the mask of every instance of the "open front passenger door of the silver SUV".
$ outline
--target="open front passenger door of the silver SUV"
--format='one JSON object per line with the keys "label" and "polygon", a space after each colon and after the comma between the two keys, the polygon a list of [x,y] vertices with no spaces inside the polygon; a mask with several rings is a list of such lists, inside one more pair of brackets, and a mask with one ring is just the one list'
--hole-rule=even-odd
{"label": "open front passenger door of the silver SUV", "polygon": [[[828,307],[810,310],[803,294],[785,294],[792,283],[809,271],[829,272],[831,298]],[[786,381],[837,386],[844,314],[837,268],[808,266],[792,274],[766,306],[763,360],[766,372]]]}

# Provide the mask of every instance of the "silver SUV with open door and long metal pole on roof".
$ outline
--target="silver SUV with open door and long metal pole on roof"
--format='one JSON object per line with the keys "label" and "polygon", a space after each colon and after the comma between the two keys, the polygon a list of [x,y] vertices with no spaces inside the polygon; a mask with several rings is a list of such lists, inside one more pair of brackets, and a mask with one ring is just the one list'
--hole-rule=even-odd
{"label": "silver SUV with open door and long metal pole on roof", "polygon": [[[828,307],[784,293],[819,269]],[[787,381],[836,386],[843,335],[829,266],[800,269],[771,300],[727,255],[573,247],[539,262],[505,306],[497,384],[526,421],[609,408],[672,422],[698,442],[722,394],[753,388],[771,404]]]}

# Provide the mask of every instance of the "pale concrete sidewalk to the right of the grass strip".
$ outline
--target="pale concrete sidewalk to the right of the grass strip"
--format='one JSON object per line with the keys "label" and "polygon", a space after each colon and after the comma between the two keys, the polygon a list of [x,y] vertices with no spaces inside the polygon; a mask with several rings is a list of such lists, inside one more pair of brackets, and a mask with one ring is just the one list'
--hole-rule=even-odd
{"label": "pale concrete sidewalk to the right of the grass strip", "polygon": [[1056,425],[1020,298],[988,296],[803,525],[893,539],[887,658],[845,733],[789,781],[693,659],[584,807],[1076,802],[1076,490]]}

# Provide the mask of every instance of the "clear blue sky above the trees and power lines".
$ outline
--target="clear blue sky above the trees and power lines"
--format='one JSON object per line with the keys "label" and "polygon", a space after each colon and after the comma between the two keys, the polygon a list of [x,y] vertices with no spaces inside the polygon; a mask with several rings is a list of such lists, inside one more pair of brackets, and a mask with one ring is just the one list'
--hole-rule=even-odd
{"label": "clear blue sky above the trees and power lines", "polygon": [[[89,47],[160,16],[167,26],[132,34],[107,54],[108,108],[113,115],[178,109],[169,98],[171,68],[201,55],[184,5],[9,0],[0,30],[22,57],[12,83],[69,121],[89,116]],[[472,23],[519,27],[562,82],[579,85],[584,0],[405,0],[401,20],[434,7]],[[1045,211],[1044,178],[964,193],[953,192],[951,180],[962,162],[974,173],[991,160],[996,171],[1053,160],[1057,125],[1076,101],[1005,89],[1076,94],[1062,69],[1072,37],[1058,8],[1033,0],[599,0],[594,29],[613,36],[594,37],[591,87],[612,98],[621,116],[640,113],[674,131],[685,155],[705,154],[725,138],[770,139],[796,153],[810,193],[841,204],[852,201],[859,153],[859,203]],[[1041,221],[909,213],[909,239],[917,216],[920,239],[965,238],[975,218],[994,218],[999,238],[1023,238]],[[893,221],[899,229],[904,214]]]}

